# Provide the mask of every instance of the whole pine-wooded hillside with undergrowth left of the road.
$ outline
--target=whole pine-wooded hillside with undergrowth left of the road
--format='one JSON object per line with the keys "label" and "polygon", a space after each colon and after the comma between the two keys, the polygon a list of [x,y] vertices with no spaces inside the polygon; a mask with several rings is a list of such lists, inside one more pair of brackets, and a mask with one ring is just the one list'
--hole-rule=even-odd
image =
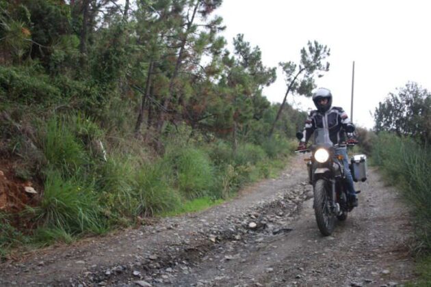
{"label": "whole pine-wooded hillside with undergrowth left of the road", "polygon": [[[226,49],[221,3],[0,0],[0,169],[38,192],[0,211],[0,253],[207,206],[285,165],[306,115],[263,96],[276,68],[246,36]],[[329,67],[326,46],[300,52],[286,96]]]}

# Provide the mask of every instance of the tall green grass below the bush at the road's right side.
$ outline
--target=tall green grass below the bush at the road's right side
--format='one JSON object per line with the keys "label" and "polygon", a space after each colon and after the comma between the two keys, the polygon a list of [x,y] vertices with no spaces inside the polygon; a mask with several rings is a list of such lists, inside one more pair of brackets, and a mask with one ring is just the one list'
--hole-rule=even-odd
{"label": "tall green grass below the bush at the road's right side", "polygon": [[400,184],[415,216],[419,248],[431,251],[431,148],[413,139],[380,133],[372,156],[391,181]]}

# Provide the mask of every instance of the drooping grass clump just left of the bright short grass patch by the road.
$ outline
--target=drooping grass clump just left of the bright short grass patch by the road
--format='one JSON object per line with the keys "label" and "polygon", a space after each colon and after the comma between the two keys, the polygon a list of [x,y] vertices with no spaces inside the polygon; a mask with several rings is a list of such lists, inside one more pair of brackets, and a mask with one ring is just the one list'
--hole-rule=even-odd
{"label": "drooping grass clump just left of the bright short grass patch by the road", "polygon": [[137,215],[153,216],[177,208],[180,197],[170,186],[166,166],[162,163],[143,165],[136,172],[133,190],[138,199]]}

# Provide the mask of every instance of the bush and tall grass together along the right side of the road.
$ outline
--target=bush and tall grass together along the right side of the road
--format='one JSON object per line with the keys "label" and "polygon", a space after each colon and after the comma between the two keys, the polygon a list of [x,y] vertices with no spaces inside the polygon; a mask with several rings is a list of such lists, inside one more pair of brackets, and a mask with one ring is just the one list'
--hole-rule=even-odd
{"label": "bush and tall grass together along the right side of the road", "polygon": [[431,280],[431,93],[407,83],[375,111],[377,137],[371,144],[374,163],[396,182],[415,218],[423,286]]}

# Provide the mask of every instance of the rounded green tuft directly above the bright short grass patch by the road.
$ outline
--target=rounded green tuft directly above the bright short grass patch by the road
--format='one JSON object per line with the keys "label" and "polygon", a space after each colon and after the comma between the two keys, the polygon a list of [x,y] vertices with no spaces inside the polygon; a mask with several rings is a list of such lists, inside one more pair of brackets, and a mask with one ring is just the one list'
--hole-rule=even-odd
{"label": "rounded green tuft directly above the bright short grass patch by the road", "polygon": [[192,146],[166,154],[179,191],[188,199],[207,195],[213,184],[213,166],[208,156]]}

